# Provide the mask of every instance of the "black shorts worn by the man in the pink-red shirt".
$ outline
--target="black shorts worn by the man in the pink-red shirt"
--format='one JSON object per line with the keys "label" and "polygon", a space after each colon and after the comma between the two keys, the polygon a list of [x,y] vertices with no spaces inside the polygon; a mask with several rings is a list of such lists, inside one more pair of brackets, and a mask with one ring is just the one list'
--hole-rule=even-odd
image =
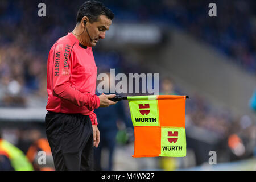
{"label": "black shorts worn by the man in the pink-red shirt", "polygon": [[93,169],[93,129],[88,115],[48,111],[46,135],[56,170]]}

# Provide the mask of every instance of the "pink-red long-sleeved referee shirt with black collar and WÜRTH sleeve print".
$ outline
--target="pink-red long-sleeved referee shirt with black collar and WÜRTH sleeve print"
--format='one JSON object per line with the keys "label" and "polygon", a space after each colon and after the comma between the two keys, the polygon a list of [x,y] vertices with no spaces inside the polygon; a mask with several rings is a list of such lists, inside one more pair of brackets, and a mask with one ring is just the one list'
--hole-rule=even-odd
{"label": "pink-red long-sleeved referee shirt with black collar and W\u00dcRTH sleeve print", "polygon": [[97,125],[94,109],[100,106],[95,94],[97,67],[91,47],[82,46],[72,34],[60,38],[49,51],[46,110],[89,115]]}

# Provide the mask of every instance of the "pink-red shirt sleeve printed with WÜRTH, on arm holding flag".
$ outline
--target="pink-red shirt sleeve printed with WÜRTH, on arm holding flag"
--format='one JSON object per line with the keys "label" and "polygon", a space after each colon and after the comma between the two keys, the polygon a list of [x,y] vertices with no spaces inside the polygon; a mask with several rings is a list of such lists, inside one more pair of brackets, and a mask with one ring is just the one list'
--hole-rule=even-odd
{"label": "pink-red shirt sleeve printed with W\u00dcRTH, on arm holding flag", "polygon": [[82,93],[69,82],[72,73],[72,49],[73,45],[65,42],[58,42],[53,51],[53,94],[64,100],[89,110],[100,106],[100,99],[96,94]]}

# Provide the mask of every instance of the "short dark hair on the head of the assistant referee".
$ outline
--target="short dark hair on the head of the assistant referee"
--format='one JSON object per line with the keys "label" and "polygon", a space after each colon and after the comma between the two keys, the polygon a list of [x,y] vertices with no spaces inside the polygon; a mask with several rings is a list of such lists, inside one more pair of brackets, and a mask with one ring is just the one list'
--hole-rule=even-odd
{"label": "short dark hair on the head of the assistant referee", "polygon": [[114,13],[105,7],[101,2],[98,1],[86,1],[81,6],[77,12],[77,23],[80,23],[84,16],[89,18],[89,22],[97,22],[100,15],[105,15],[108,19],[113,20]]}

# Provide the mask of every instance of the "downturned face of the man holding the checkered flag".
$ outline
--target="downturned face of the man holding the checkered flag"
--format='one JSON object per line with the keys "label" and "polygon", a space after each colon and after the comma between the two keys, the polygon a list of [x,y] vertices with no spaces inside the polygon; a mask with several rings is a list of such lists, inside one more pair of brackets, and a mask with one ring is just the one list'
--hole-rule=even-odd
{"label": "downturned face of the man holding the checkered flag", "polygon": [[86,28],[90,38],[92,39],[91,41],[89,36],[86,39],[89,47],[96,46],[98,40],[105,38],[106,31],[109,30],[111,23],[112,20],[108,19],[105,15],[100,15],[97,22],[86,23]]}

